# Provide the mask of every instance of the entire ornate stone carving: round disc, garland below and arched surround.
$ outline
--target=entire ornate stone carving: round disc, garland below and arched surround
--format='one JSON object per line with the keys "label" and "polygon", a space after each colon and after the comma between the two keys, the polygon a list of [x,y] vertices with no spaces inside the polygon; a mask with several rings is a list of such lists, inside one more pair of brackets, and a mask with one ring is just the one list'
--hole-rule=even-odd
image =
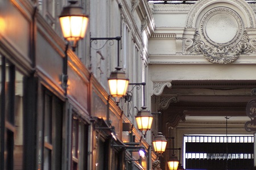
{"label": "entire ornate stone carving: round disc, garland below and arched surround", "polygon": [[[187,18],[187,27],[195,26],[194,18],[202,6],[207,6],[212,0],[203,0],[197,2],[195,7],[189,11]],[[220,0],[214,3],[223,2]],[[231,3],[230,0],[225,0],[225,3]],[[234,1],[243,9],[247,6],[240,1]],[[200,5],[199,5],[200,4]],[[247,16],[253,14],[245,10]],[[194,16],[193,16],[194,15]],[[250,17],[248,17],[250,19]],[[242,18],[237,13],[228,7],[215,7],[209,10],[201,18],[200,27],[195,32],[193,39],[184,40],[184,52],[186,54],[203,54],[209,62],[212,63],[232,63],[241,54],[254,53],[256,51],[256,39],[249,39],[247,31],[244,30]],[[250,27],[255,23],[250,19]]]}

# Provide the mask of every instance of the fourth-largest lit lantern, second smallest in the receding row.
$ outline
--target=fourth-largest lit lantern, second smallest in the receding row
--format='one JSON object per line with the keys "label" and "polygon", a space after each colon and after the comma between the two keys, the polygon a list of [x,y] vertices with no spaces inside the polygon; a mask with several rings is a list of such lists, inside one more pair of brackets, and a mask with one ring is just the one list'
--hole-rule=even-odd
{"label": "fourth-largest lit lantern, second smallest in the receding row", "polygon": [[166,140],[166,137],[164,137],[164,135],[162,133],[159,132],[155,136],[152,144],[154,147],[154,151],[156,153],[162,154],[164,151],[166,151],[167,140]]}

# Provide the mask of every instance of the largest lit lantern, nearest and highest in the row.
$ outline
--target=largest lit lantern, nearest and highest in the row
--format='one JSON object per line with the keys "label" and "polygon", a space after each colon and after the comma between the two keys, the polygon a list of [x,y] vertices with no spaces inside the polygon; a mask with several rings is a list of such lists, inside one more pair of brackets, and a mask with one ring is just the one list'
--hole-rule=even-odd
{"label": "largest lit lantern, nearest and highest in the row", "polygon": [[77,1],[69,1],[69,3],[61,11],[59,20],[63,36],[74,50],[76,42],[85,36],[89,19],[83,14],[83,8],[76,5]]}

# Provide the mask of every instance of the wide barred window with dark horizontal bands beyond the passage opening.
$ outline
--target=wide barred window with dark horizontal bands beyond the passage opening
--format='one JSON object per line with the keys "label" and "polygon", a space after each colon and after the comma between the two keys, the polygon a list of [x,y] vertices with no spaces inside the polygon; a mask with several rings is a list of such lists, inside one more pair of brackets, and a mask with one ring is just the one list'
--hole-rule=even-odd
{"label": "wide barred window with dark horizontal bands beyond the passage opening", "polygon": [[185,168],[254,169],[253,143],[252,135],[185,135]]}

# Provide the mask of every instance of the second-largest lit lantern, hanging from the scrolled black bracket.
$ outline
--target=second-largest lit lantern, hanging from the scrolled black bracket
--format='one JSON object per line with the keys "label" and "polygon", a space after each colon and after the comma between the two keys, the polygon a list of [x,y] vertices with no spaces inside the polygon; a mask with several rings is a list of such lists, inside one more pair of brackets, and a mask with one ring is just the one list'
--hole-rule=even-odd
{"label": "second-largest lit lantern, hanging from the scrolled black bracket", "polygon": [[129,79],[126,78],[125,72],[117,69],[110,74],[108,83],[110,95],[115,98],[116,103],[119,103],[120,98],[126,94]]}

